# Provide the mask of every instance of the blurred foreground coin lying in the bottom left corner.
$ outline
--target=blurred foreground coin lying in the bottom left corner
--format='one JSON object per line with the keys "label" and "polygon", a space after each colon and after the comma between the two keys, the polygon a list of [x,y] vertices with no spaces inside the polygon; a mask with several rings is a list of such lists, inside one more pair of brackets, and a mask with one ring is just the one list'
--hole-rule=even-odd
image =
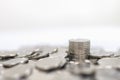
{"label": "blurred foreground coin lying in the bottom left corner", "polygon": [[10,69],[6,69],[2,76],[5,80],[23,80],[32,74],[32,68],[29,65],[17,65]]}

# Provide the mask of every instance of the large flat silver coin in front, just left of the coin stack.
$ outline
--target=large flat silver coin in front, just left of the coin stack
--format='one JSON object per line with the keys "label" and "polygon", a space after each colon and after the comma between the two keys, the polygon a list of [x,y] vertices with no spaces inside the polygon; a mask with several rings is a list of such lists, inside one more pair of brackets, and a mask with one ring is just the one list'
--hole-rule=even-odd
{"label": "large flat silver coin in front, just left of the coin stack", "polygon": [[59,69],[66,64],[64,58],[43,58],[36,62],[36,68],[42,71]]}

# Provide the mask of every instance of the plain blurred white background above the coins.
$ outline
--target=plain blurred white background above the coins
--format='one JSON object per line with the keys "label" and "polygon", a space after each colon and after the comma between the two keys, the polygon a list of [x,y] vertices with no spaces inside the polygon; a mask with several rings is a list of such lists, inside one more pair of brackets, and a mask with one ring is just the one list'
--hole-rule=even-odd
{"label": "plain blurred white background above the coins", "polygon": [[120,47],[120,0],[0,0],[0,49],[68,45],[88,38],[92,46]]}

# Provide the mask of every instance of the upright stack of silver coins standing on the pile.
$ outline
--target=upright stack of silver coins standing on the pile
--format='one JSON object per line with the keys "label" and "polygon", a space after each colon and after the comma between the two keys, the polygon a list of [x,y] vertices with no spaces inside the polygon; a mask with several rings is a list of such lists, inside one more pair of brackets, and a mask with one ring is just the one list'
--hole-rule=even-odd
{"label": "upright stack of silver coins standing on the pile", "polygon": [[75,61],[84,62],[90,54],[90,40],[71,39],[69,40],[69,53]]}

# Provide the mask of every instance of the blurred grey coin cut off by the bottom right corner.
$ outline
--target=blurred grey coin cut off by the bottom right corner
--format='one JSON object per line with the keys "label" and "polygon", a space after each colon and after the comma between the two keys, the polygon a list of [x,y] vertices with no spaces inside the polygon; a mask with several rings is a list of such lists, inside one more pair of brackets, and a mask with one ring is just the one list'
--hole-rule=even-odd
{"label": "blurred grey coin cut off by the bottom right corner", "polygon": [[96,80],[120,80],[120,72],[116,69],[98,69]]}

